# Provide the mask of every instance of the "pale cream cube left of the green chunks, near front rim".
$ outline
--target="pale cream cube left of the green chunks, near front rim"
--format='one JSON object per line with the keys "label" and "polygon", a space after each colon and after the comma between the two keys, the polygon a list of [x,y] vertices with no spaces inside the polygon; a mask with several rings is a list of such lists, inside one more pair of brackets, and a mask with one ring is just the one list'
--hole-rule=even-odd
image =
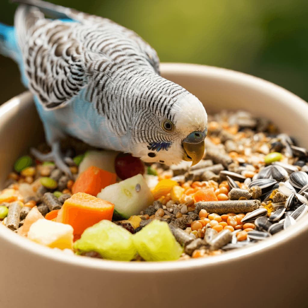
{"label": "pale cream cube left of the green chunks, near front rim", "polygon": [[39,219],[31,225],[28,239],[51,248],[72,249],[73,228],[59,222]]}

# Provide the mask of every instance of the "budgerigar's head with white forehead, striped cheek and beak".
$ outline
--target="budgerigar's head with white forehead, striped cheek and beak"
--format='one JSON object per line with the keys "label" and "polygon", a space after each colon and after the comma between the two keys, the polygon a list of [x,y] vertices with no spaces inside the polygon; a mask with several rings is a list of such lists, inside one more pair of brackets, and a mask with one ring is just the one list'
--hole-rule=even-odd
{"label": "budgerigar's head with white forehead, striped cheek and beak", "polygon": [[[136,144],[133,156],[145,162],[178,164],[181,160],[197,164],[204,155],[207,114],[196,96],[185,91],[176,101],[160,108],[140,111],[132,126]],[[140,140],[145,142],[138,142]]]}

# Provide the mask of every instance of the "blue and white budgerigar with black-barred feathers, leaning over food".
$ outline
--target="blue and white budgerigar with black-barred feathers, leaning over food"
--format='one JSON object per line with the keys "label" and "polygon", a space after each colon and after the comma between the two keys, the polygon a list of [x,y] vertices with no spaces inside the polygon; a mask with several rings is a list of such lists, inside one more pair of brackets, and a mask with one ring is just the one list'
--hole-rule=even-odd
{"label": "blue and white budgerigar with black-barred feathers, leaning over food", "polygon": [[15,2],[14,27],[0,24],[0,51],[34,94],[52,149],[39,158],[69,173],[59,143],[69,135],[145,162],[201,160],[202,103],[160,76],[156,51],[135,32],[48,2]]}

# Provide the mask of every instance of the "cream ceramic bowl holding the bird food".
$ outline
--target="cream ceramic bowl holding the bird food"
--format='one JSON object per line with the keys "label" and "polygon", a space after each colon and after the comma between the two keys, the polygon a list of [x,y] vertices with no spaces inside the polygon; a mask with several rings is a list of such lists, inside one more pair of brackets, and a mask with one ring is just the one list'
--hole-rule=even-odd
{"label": "cream ceramic bowl holding the bird food", "polygon": [[[162,64],[208,112],[245,109],[308,147],[308,105],[264,80],[216,67]],[[0,185],[42,137],[32,96],[0,107]],[[0,307],[307,306],[308,220],[251,247],[179,262],[115,262],[66,255],[0,225]]]}

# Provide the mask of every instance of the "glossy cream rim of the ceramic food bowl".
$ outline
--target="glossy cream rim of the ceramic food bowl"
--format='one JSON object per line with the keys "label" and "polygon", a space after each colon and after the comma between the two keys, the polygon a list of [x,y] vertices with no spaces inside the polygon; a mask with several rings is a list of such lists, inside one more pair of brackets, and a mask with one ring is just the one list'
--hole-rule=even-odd
{"label": "glossy cream rim of the ceramic food bowl", "polygon": [[[302,108],[303,112],[308,115],[308,104],[297,95],[290,91],[275,85],[264,79],[233,71],[220,67],[212,67],[199,64],[186,64],[186,63],[161,63],[160,65],[162,75],[168,74],[180,74],[180,75],[200,75],[208,76],[215,79],[232,80],[239,84],[245,84],[245,87],[250,86],[266,92],[271,92],[273,95],[277,95],[278,98],[283,96],[284,99],[290,100],[290,103],[294,107]],[[0,107],[0,115],[10,115],[14,108],[18,106],[22,101],[32,100],[32,95],[29,92],[24,92],[21,95],[15,96]],[[287,234],[286,234],[287,232]],[[13,233],[5,226],[0,224],[0,240],[13,244],[20,249],[26,250],[28,253],[35,254],[40,257],[45,257],[49,261],[55,263],[62,263],[71,266],[84,267],[88,269],[113,271],[113,272],[134,272],[134,273],[152,273],[152,272],[165,272],[165,271],[178,271],[184,269],[202,268],[206,269],[213,266],[220,266],[222,264],[235,261],[244,261],[253,256],[260,255],[265,251],[270,251],[278,246],[286,245],[289,241],[294,240],[300,233],[308,233],[308,220],[299,221],[297,224],[291,226],[288,230],[283,230],[274,236],[243,247],[241,249],[235,249],[222,253],[221,255],[211,256],[207,258],[197,258],[182,261],[161,261],[161,262],[126,262],[126,261],[112,261],[101,260],[90,257],[80,257],[58,251],[56,249],[50,249],[42,245],[36,244],[26,238],[22,238],[20,235]]]}

